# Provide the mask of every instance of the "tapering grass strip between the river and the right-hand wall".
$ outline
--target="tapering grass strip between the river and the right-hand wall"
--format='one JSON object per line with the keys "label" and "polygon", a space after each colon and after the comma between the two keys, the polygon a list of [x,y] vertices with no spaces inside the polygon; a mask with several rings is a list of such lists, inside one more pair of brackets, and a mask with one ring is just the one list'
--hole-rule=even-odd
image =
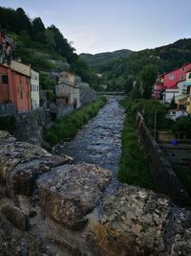
{"label": "tapering grass strip between the river and the right-hand wall", "polygon": [[122,105],[126,109],[126,118],[122,130],[122,152],[120,156],[118,179],[121,182],[154,189],[144,152],[138,143],[138,135],[134,128],[134,113],[128,100]]}

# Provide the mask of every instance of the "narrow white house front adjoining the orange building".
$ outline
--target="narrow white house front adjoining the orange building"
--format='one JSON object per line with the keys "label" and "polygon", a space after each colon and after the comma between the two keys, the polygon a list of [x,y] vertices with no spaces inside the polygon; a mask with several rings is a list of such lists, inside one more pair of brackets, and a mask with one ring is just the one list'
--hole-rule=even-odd
{"label": "narrow white house front adjoining the orange building", "polygon": [[32,109],[36,109],[40,106],[39,97],[39,73],[31,69],[31,99]]}

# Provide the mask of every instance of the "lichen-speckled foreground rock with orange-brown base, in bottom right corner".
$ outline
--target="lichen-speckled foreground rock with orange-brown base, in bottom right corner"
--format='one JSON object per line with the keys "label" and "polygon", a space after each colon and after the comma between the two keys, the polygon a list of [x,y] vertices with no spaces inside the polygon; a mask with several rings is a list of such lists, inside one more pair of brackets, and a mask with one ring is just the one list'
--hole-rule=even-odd
{"label": "lichen-speckled foreground rock with orange-brown base, in bottom right corner", "polygon": [[190,212],[180,210],[169,217],[170,209],[168,199],[123,185],[116,194],[103,198],[101,215],[91,218],[89,239],[95,243],[96,254],[191,255]]}

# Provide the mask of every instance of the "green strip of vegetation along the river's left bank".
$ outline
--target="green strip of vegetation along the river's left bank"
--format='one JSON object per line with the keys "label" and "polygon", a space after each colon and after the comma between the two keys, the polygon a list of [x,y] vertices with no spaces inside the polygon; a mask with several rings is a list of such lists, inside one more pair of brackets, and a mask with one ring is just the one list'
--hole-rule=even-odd
{"label": "green strip of vegetation along the river's left bank", "polygon": [[61,120],[55,121],[51,128],[47,128],[46,140],[53,147],[62,140],[73,138],[77,130],[82,128],[90,119],[96,116],[98,110],[107,102],[105,97],[99,97],[92,105],[77,109]]}

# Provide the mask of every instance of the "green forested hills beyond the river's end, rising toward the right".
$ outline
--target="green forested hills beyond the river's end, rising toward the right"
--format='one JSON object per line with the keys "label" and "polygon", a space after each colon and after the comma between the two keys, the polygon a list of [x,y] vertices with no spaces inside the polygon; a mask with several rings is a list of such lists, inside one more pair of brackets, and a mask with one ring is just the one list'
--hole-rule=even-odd
{"label": "green forested hills beyond the river's end, rising toward the right", "polygon": [[157,77],[158,74],[191,62],[191,39],[180,39],[155,49],[132,52],[125,58],[112,58],[96,64],[90,59],[88,61],[97,73],[102,74],[102,83],[107,85],[107,90],[125,89],[128,93],[133,88],[133,82],[140,83],[146,72]]}

